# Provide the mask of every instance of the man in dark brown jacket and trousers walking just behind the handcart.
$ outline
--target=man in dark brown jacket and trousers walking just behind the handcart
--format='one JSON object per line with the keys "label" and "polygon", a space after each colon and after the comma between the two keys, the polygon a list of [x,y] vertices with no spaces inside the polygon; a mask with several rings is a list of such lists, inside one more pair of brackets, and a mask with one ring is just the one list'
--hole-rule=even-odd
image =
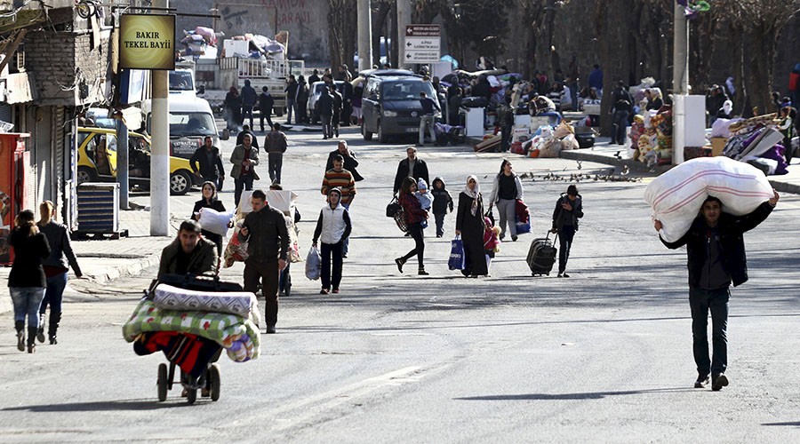
{"label": "man in dark brown jacket and trousers walking just behind the handcart", "polygon": [[284,213],[269,206],[267,194],[255,190],[251,196],[252,212],[244,217],[237,234],[247,242],[244,260],[244,291],[261,293],[267,301],[265,318],[267,333],[275,333],[278,313],[277,288],[280,272],[286,267],[289,253],[289,231]]}

